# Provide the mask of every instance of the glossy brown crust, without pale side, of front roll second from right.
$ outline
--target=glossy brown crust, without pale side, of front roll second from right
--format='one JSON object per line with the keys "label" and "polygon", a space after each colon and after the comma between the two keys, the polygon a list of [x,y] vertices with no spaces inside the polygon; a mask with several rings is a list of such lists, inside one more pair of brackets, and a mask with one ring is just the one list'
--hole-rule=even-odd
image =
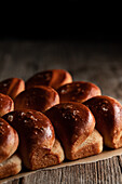
{"label": "glossy brown crust, without pale side, of front roll second from right", "polygon": [[58,104],[45,111],[45,115],[63,143],[66,157],[69,150],[71,153],[86,140],[95,127],[91,110],[80,103]]}

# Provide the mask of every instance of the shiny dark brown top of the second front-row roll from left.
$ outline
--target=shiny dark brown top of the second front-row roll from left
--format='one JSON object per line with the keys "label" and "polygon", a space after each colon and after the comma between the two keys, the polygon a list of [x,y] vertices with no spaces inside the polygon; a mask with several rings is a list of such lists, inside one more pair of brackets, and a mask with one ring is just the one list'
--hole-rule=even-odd
{"label": "shiny dark brown top of the second front-row roll from left", "polygon": [[28,149],[35,146],[52,148],[55,139],[54,129],[42,113],[23,109],[9,113],[3,118],[18,132],[21,144],[24,140]]}

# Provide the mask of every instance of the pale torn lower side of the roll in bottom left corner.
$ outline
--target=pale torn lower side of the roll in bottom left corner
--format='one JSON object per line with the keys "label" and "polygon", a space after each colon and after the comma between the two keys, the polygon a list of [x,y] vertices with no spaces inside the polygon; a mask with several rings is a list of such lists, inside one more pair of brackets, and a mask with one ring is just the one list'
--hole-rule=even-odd
{"label": "pale torn lower side of the roll in bottom left corner", "polygon": [[17,174],[22,170],[22,160],[14,154],[5,161],[0,163],[0,179]]}

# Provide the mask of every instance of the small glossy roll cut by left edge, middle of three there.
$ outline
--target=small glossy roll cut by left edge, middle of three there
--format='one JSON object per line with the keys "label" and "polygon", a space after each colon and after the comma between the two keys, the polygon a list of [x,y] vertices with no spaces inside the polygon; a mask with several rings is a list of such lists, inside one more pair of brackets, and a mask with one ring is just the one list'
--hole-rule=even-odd
{"label": "small glossy roll cut by left edge, middle of three there", "polygon": [[14,110],[14,102],[5,94],[0,93],[0,117]]}

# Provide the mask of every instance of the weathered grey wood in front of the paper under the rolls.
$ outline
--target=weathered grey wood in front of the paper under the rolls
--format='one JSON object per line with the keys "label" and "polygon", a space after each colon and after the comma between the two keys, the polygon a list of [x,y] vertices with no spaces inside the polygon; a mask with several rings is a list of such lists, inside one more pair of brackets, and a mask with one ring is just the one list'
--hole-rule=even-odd
{"label": "weathered grey wood in front of the paper under the rolls", "polygon": [[[37,171],[19,180],[8,182],[8,184],[17,183],[121,183],[121,168],[119,167],[118,157],[94,163],[78,165],[72,167],[60,168],[56,170]],[[5,182],[4,182],[5,183]]]}

